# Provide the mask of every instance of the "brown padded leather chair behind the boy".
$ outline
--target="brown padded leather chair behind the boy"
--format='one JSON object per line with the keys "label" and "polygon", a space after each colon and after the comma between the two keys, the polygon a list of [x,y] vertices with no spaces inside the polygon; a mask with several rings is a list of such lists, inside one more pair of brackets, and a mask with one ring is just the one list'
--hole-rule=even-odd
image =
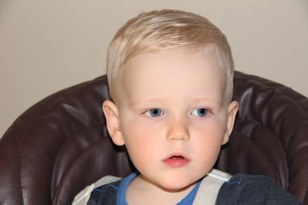
{"label": "brown padded leather chair behind the boy", "polygon": [[[110,141],[102,103],[106,76],[41,100],[0,140],[0,203],[70,204],[105,175],[134,171],[124,147]],[[272,177],[308,204],[308,99],[257,76],[235,73],[240,109],[216,168]]]}

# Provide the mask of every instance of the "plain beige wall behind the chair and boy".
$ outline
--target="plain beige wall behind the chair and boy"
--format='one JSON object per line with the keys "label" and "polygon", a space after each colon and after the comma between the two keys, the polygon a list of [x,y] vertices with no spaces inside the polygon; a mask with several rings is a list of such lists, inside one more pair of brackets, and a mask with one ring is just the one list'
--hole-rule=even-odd
{"label": "plain beige wall behind the chair and boy", "polygon": [[208,17],[227,35],[237,70],[308,96],[306,0],[1,0],[0,137],[36,101],[105,74],[115,31],[162,8]]}

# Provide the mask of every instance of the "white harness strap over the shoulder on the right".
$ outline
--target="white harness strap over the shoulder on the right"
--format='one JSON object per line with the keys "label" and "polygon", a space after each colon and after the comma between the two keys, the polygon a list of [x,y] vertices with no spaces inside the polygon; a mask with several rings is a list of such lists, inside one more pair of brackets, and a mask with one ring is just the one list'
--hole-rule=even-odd
{"label": "white harness strap over the shoulder on the right", "polygon": [[192,205],[214,205],[218,192],[225,181],[228,181],[232,175],[213,169],[205,176],[198,189],[195,200]]}

